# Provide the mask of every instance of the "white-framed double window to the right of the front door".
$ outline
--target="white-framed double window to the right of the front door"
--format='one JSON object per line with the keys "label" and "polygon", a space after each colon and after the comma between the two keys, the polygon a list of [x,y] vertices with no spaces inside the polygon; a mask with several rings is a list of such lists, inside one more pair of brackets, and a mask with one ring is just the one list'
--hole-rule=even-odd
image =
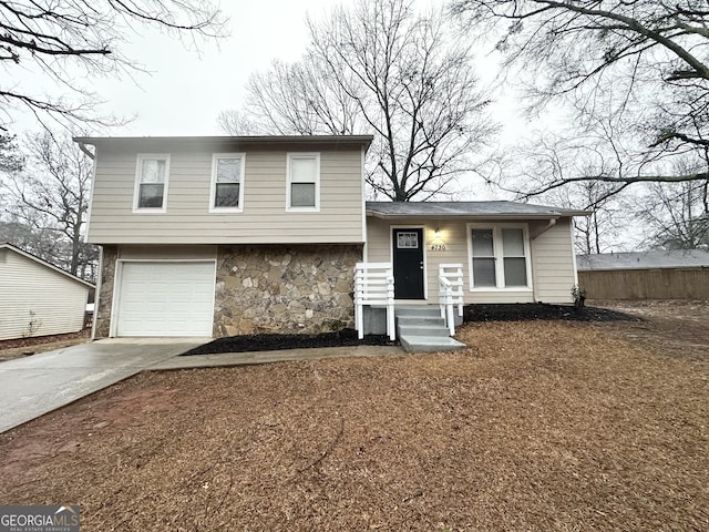
{"label": "white-framed double window to the right of the front door", "polygon": [[527,224],[467,224],[471,290],[530,290]]}

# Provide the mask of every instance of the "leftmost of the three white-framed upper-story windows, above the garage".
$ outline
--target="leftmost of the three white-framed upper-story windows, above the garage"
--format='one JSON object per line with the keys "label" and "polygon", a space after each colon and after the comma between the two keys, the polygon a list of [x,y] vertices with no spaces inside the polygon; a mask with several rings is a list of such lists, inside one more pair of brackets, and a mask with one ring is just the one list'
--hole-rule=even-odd
{"label": "leftmost of the three white-framed upper-story windows, above the garage", "polygon": [[169,154],[138,153],[133,212],[166,212],[168,181]]}

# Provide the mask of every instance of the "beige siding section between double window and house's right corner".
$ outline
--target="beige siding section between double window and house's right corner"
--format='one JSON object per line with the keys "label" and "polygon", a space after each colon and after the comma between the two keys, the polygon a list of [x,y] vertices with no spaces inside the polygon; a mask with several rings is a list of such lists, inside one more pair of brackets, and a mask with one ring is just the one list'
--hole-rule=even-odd
{"label": "beige siding section between double window and house's right corner", "polygon": [[[532,234],[546,222],[530,224]],[[534,295],[542,303],[573,303],[575,284],[572,221],[559,218],[551,228],[532,239]]]}

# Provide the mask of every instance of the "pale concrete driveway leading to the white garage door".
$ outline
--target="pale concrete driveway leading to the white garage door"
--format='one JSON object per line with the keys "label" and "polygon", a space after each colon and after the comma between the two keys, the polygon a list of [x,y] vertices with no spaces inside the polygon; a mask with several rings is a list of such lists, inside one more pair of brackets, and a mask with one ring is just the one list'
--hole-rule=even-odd
{"label": "pale concrete driveway leading to the white garage door", "polygon": [[0,432],[212,338],[110,338],[0,364]]}

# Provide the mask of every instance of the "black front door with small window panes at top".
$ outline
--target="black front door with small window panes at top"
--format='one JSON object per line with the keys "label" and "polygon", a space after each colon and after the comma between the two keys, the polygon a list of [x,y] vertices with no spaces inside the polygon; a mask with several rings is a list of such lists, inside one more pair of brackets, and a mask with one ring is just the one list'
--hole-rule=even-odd
{"label": "black front door with small window panes at top", "polygon": [[392,229],[394,298],[423,299],[423,229]]}

